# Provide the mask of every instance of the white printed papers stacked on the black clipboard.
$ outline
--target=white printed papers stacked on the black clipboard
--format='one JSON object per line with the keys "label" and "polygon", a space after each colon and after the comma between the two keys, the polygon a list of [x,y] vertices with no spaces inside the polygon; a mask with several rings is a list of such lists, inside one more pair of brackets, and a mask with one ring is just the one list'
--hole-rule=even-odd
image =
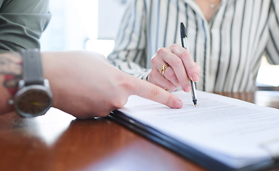
{"label": "white printed papers stacked on the black clipboard", "polygon": [[183,108],[172,109],[136,95],[120,111],[230,167],[240,168],[279,155],[279,110],[222,95],[174,92]]}

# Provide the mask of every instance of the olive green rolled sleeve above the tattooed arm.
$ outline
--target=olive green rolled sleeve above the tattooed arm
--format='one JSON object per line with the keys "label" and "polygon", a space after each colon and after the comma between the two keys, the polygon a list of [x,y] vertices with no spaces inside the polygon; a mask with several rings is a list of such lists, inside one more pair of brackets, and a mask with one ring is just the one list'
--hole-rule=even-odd
{"label": "olive green rolled sleeve above the tattooed arm", "polygon": [[50,19],[49,0],[0,0],[0,52],[40,48]]}

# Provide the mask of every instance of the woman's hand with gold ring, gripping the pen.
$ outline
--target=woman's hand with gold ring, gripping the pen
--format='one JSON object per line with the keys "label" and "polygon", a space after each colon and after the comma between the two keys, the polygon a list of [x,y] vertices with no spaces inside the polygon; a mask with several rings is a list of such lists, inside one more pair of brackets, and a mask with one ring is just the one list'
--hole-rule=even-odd
{"label": "woman's hand with gold ring, gripping the pen", "polygon": [[[162,73],[166,63],[168,67]],[[199,72],[200,66],[193,61],[191,54],[182,46],[173,44],[168,48],[160,48],[151,59],[148,82],[171,91],[181,86],[182,90],[188,92],[191,90],[190,80],[198,82]]]}

